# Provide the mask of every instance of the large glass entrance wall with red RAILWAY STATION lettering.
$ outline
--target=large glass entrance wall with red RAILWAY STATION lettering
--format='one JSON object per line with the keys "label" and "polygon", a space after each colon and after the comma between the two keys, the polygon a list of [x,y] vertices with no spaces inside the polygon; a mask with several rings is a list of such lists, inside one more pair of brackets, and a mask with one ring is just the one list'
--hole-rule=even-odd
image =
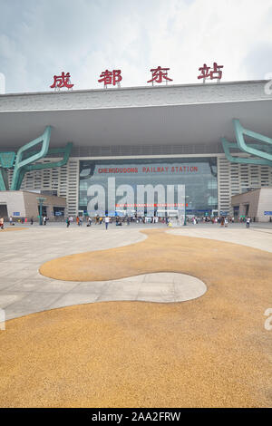
{"label": "large glass entrance wall with red RAILWAY STATION lettering", "polygon": [[[178,209],[181,187],[188,214],[211,215],[218,209],[217,158],[81,160],[79,210],[92,215],[104,206],[112,216],[115,206],[117,211],[138,208],[148,214],[153,203],[154,214],[162,216],[164,209]],[[144,198],[139,200],[140,189]]]}

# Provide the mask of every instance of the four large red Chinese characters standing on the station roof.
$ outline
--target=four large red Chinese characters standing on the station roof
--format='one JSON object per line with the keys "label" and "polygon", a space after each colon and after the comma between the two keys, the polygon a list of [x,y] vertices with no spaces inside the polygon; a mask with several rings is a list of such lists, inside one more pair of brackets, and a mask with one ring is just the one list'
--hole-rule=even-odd
{"label": "four large red Chinese characters standing on the station roof", "polygon": [[[213,63],[213,68],[204,63],[204,65],[199,68],[200,73],[198,75],[198,80],[202,80],[202,82],[206,82],[206,80],[217,80],[217,82],[220,82],[223,74],[222,68],[224,68],[224,65],[218,65],[218,63]],[[159,84],[161,82],[165,82],[165,84],[167,84],[168,82],[173,81],[168,76],[170,68],[162,68],[161,66],[158,66],[157,68],[152,68],[150,71],[151,79],[147,82],[151,83],[152,86],[154,85],[154,82]],[[102,82],[104,89],[107,89],[108,85],[120,87],[121,80],[121,70],[105,70],[101,73],[98,82]],[[63,72],[61,75],[53,76],[53,84],[50,88],[55,91],[63,88],[73,90],[73,85],[70,73]]]}

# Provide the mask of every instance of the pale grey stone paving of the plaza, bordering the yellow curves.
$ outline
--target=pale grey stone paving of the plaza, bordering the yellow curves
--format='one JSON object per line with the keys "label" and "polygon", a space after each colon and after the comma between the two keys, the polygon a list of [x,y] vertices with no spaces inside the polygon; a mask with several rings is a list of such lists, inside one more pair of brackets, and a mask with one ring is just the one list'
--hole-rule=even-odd
{"label": "pale grey stone paving of the plaza, bordering the yellow curves", "polygon": [[[5,309],[6,319],[68,305],[102,301],[180,302],[198,297],[206,291],[199,283],[192,286],[193,278],[182,274],[141,274],[116,280],[80,282],[51,279],[39,273],[39,267],[44,262],[58,257],[138,243],[146,238],[141,230],[152,229],[151,226],[125,226],[121,229],[112,226],[108,231],[103,226],[93,226],[92,229],[74,226],[66,229],[60,224],[19,228],[24,231],[0,234],[3,240],[0,308]],[[159,228],[167,229],[165,226]],[[211,227],[204,224],[199,227],[171,228],[167,232],[228,241],[272,253],[272,227],[269,226],[248,231],[243,225],[221,229],[216,225]],[[123,262],[125,266],[125,257]],[[191,294],[187,290],[189,282]]]}

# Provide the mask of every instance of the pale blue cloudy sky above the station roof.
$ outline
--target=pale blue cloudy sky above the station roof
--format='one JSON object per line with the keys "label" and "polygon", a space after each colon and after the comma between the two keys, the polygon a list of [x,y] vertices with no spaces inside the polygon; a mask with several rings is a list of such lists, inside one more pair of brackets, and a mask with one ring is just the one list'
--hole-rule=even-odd
{"label": "pale blue cloudy sky above the station roof", "polygon": [[199,83],[199,67],[224,65],[222,82],[272,76],[272,0],[0,0],[5,92],[102,89],[106,69],[121,87],[146,86],[151,68],[173,84]]}

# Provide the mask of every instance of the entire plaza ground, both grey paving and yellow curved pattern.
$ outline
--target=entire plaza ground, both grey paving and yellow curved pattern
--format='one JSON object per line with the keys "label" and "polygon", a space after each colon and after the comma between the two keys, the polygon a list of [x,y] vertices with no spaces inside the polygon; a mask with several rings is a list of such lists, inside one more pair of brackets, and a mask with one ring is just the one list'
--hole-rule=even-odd
{"label": "entire plaza ground, both grey paving and yellow curved pattern", "polygon": [[0,406],[272,405],[270,224],[21,228],[0,232]]}

